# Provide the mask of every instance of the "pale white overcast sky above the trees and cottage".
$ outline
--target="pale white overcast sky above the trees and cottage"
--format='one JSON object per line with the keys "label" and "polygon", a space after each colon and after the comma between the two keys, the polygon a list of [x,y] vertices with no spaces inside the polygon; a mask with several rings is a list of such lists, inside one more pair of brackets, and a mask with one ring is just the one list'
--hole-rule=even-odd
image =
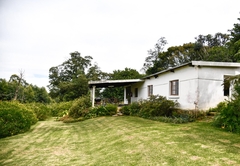
{"label": "pale white overcast sky above the trees and cottage", "polygon": [[104,72],[140,72],[160,37],[167,47],[227,33],[240,0],[0,0],[0,78],[25,71],[47,86],[49,69],[78,51]]}

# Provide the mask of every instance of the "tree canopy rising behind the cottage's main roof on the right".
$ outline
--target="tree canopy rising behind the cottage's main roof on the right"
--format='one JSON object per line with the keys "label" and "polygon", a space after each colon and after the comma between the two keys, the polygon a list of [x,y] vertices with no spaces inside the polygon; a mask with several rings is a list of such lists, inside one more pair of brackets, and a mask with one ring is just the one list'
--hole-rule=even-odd
{"label": "tree canopy rising behind the cottage's main roof on the right", "polygon": [[[240,19],[238,18],[238,21]],[[234,24],[230,34],[198,35],[194,43],[171,46],[163,50],[167,40],[161,37],[143,64],[147,75],[193,60],[238,62],[240,60],[240,24]]]}

